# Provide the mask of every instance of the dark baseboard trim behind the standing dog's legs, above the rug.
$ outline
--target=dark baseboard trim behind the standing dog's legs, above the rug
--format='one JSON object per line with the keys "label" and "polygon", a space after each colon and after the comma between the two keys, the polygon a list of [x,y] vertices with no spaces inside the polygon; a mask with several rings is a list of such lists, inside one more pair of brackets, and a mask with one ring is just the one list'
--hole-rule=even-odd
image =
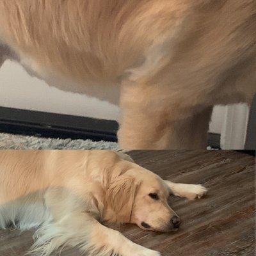
{"label": "dark baseboard trim behind the standing dog's legs, above the rug", "polygon": [[[88,118],[0,107],[0,132],[45,138],[117,141],[118,123]],[[208,145],[220,148],[220,134],[208,133]]]}

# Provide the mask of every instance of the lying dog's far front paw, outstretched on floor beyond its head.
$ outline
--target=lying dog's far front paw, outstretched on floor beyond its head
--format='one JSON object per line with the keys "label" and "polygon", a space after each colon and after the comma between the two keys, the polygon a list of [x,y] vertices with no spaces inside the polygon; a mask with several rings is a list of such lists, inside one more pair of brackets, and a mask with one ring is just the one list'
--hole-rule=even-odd
{"label": "lying dog's far front paw, outstretched on floor beyond its head", "polygon": [[183,184],[183,183],[174,183],[169,180],[164,180],[172,195],[186,197],[189,200],[193,200],[195,198],[200,198],[201,196],[205,195],[207,189],[198,184]]}

